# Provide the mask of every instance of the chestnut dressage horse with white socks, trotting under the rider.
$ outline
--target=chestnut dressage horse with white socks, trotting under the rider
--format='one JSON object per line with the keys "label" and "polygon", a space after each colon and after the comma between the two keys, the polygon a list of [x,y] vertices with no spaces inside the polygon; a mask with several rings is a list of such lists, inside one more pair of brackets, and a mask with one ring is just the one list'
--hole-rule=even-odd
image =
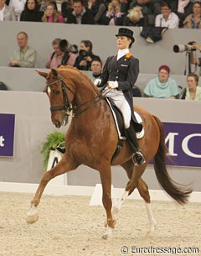
{"label": "chestnut dressage horse with white socks, trotting under the rider", "polygon": [[[38,71],[46,79],[46,93],[49,97],[52,122],[60,128],[68,121],[70,114],[72,121],[65,135],[65,154],[53,169],[44,173],[39,188],[31,202],[28,212],[28,223],[38,220],[37,206],[49,180],[67,171],[75,170],[79,165],[87,165],[98,170],[102,184],[102,202],[106,209],[106,232],[103,238],[111,235],[115,227],[115,215],[119,212],[123,201],[137,187],[146,202],[149,219],[149,231],[154,229],[156,221],[152,214],[151,201],[147,184],[141,176],[151,159],[154,159],[154,170],[160,185],[173,200],[179,204],[188,201],[190,189],[176,184],[168,175],[164,131],[161,121],[142,109],[135,110],[142,117],[145,135],[139,139],[140,148],[146,159],[146,164],[135,166],[132,152],[126,141],[120,154],[112,161],[116,151],[118,134],[116,124],[105,97],[94,86],[93,82],[74,67],[60,66],[49,73]],[[128,176],[128,183],[124,195],[115,206],[111,201],[111,165],[121,165]]]}

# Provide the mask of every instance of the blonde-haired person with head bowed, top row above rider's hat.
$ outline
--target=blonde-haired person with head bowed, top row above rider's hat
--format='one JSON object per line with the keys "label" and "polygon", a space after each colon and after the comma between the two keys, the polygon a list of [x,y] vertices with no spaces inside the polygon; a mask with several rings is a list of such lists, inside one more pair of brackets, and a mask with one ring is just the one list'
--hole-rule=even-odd
{"label": "blonde-haired person with head bowed, top row above rider's hat", "polygon": [[128,10],[128,14],[124,20],[124,26],[144,27],[148,25],[147,16],[142,14],[142,7],[136,6]]}

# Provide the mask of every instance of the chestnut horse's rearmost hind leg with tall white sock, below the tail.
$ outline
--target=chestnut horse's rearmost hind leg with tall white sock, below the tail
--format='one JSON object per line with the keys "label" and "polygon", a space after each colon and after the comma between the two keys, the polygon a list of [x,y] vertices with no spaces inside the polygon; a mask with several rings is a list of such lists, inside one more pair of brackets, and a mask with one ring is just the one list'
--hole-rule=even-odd
{"label": "chestnut horse's rearmost hind leg with tall white sock, below the tail", "polygon": [[144,180],[139,179],[137,190],[139,191],[140,195],[145,201],[145,206],[146,206],[148,221],[149,221],[149,232],[151,233],[152,231],[154,231],[155,225],[157,224],[157,222],[153,216],[147,183]]}

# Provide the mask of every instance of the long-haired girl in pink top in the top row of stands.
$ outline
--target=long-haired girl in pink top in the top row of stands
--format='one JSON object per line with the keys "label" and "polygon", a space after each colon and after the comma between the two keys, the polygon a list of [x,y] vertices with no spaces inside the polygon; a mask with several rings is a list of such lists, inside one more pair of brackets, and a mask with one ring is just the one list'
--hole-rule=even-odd
{"label": "long-haired girl in pink top in the top row of stands", "polygon": [[62,14],[57,11],[55,4],[49,3],[44,11],[42,21],[49,23],[64,23],[64,18]]}

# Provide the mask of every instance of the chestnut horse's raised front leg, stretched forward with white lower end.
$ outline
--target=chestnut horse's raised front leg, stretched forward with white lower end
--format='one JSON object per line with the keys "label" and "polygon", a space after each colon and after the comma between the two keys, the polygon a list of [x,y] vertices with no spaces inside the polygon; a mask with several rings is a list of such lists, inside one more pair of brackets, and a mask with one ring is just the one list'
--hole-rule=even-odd
{"label": "chestnut horse's raised front leg, stretched forward with white lower end", "polygon": [[39,213],[37,210],[37,206],[39,206],[39,201],[41,199],[41,196],[43,195],[44,188],[48,184],[49,180],[54,179],[54,177],[58,175],[62,175],[65,172],[69,170],[75,170],[77,165],[72,163],[72,160],[70,160],[66,155],[59,161],[57,165],[54,166],[53,169],[46,171],[40,180],[39,187],[35,193],[35,196],[33,197],[33,200],[31,201],[31,208],[28,212],[27,222],[32,224],[34,222],[37,222],[39,218]]}

